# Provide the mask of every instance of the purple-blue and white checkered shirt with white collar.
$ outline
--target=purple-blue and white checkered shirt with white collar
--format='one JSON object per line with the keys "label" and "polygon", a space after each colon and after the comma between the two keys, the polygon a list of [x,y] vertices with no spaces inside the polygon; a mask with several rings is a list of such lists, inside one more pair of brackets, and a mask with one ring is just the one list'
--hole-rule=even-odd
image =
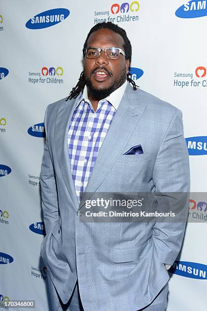
{"label": "purple-blue and white checkered shirt with white collar", "polygon": [[68,151],[79,203],[126,86],[127,81],[107,98],[99,101],[96,111],[88,100],[86,86],[77,102],[68,132]]}

